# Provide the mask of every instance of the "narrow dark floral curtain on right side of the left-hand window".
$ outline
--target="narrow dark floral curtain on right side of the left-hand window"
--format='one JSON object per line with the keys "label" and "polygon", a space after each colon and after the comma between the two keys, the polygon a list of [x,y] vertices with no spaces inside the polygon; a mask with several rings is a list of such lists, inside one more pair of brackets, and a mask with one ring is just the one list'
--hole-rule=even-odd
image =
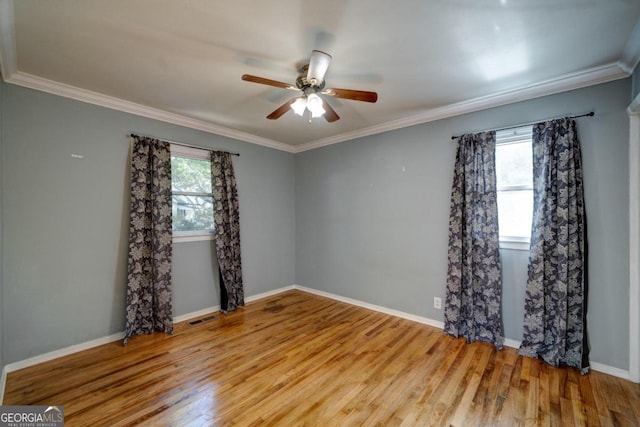
{"label": "narrow dark floral curtain on right side of the left-hand window", "polygon": [[244,305],[242,259],[240,256],[240,210],[231,154],[211,152],[211,179],[214,199],[214,238],[220,267],[223,312]]}

